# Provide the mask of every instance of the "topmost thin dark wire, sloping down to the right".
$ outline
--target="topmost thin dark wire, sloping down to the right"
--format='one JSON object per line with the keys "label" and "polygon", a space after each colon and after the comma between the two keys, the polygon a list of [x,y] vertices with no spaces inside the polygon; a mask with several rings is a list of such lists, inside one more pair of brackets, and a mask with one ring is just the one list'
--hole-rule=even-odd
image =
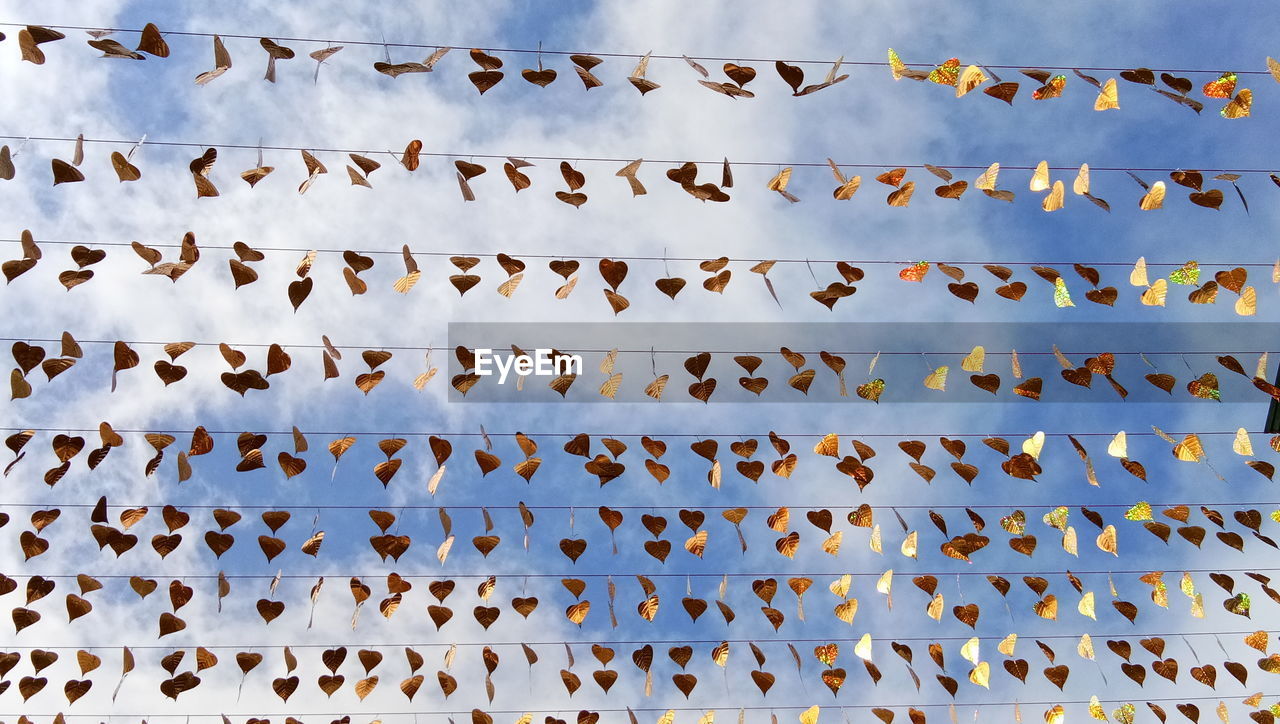
{"label": "topmost thin dark wire, sloping down to the right", "polygon": [[[0,23],[0,27],[24,27],[35,23]],[[64,29],[64,31],[110,31],[110,32],[142,32],[142,28],[97,28],[91,26],[41,26],[46,28]],[[178,37],[214,37],[219,36],[223,38],[237,38],[237,40],[259,40],[262,37],[269,37],[276,42],[316,42],[325,45],[353,45],[353,46],[374,46],[374,47],[415,47],[415,49],[449,49],[449,50],[470,50],[472,47],[484,47],[488,52],[518,52],[527,55],[595,55],[598,58],[628,58],[636,59],[648,55],[650,59],[659,60],[684,60],[689,58],[690,60],[710,60],[718,63],[773,63],[776,60],[783,60],[790,64],[796,65],[831,65],[832,60],[787,60],[780,58],[717,58],[708,55],[658,55],[658,54],[644,54],[644,52],[604,52],[604,51],[588,51],[588,50],[547,50],[543,47],[488,47],[488,46],[475,46],[475,45],[452,45],[452,43],[430,43],[430,42],[387,42],[387,41],[370,41],[370,40],[338,40],[338,38],[314,38],[314,37],[284,37],[284,36],[259,36],[259,35],[243,35],[243,33],[212,33],[212,32],[195,32],[195,31],[161,31],[164,36],[178,36]],[[887,68],[890,64],[887,60],[841,60],[842,65],[854,67],[882,67]],[[906,67],[915,68],[932,68],[932,63],[904,63]],[[1080,65],[992,65],[983,64],[983,68],[996,68],[1001,70],[1020,70],[1023,68],[1028,69],[1075,69],[1075,70],[1107,70],[1107,72],[1123,72],[1133,70],[1132,68],[1105,68],[1105,67],[1080,67]],[[1148,70],[1156,73],[1212,73],[1215,75],[1222,73],[1222,70],[1213,70],[1207,68],[1148,68]],[[1234,70],[1238,75],[1268,75],[1268,70]]]}

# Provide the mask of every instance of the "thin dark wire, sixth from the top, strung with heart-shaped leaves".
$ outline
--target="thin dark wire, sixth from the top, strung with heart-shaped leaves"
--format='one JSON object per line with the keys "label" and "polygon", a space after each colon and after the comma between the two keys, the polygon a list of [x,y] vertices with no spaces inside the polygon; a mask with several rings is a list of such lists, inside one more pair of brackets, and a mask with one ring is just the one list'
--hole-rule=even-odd
{"label": "thin dark wire, sixth from the top, strung with heart-shaped leaves", "polygon": [[[1270,505],[1280,505],[1280,501],[1236,501],[1236,503],[1149,503],[1149,501],[1147,501],[1147,504],[1151,505],[1152,508],[1176,508],[1178,505],[1204,507],[1204,508],[1217,508],[1217,507],[1231,508],[1231,507],[1245,507],[1247,505],[1247,507],[1266,508],[1266,507],[1270,507]],[[148,508],[148,509],[150,508],[163,508],[164,505],[165,505],[165,503],[132,504],[132,505],[129,505],[129,504],[120,504],[120,503],[113,503],[113,504],[108,505],[106,508],[108,509],[118,508],[118,509],[128,510],[128,509],[133,509],[133,508]],[[300,508],[302,510],[369,510],[369,509],[378,509],[376,507],[370,507],[370,505],[301,505],[300,507],[300,505],[296,505],[296,504],[285,504],[285,505],[242,505],[239,503],[233,503],[233,504],[227,504],[227,505],[214,505],[214,504],[175,505],[175,508],[178,508],[180,510],[219,510],[219,509],[227,509],[227,510],[234,510],[234,509],[239,509],[239,510],[278,510],[280,508],[288,508],[291,505],[293,505],[296,508]],[[59,508],[96,508],[96,504],[93,504],[93,503],[65,503],[65,504],[60,504],[58,507]],[[1125,509],[1129,509],[1132,507],[1133,505],[1129,504],[1129,503],[1098,503],[1097,505],[1085,505],[1085,508],[1091,508],[1091,509],[1092,508],[1125,508]],[[44,504],[44,503],[0,503],[0,508],[49,508],[49,504]],[[436,509],[440,509],[440,508],[447,508],[449,510],[520,510],[521,509],[520,505],[448,505],[448,504],[440,504],[440,505],[388,505],[387,508],[394,508],[397,510],[436,510]],[[588,505],[524,505],[524,509],[526,509],[526,510],[589,510],[591,508],[595,508],[595,505],[590,505],[590,504],[588,504]],[[844,509],[844,508],[856,509],[858,505],[831,505],[831,504],[822,504],[822,503],[813,503],[813,504],[780,503],[780,504],[776,504],[776,505],[603,505],[603,508],[609,508],[611,510],[684,510],[684,509],[698,509],[698,510],[737,510],[737,509],[744,509],[744,510],[777,510],[778,508],[796,508],[796,509],[801,509],[801,508],[836,508],[838,510],[838,509]],[[979,510],[979,509],[980,510],[1005,510],[1005,509],[1011,509],[1011,508],[1027,508],[1027,509],[1032,509],[1032,510],[1038,510],[1038,509],[1043,508],[1046,510],[1051,510],[1051,509],[1055,509],[1055,508],[1060,508],[1060,505],[1043,504],[1043,503],[1021,504],[1021,505],[1014,504],[1014,503],[1007,503],[1007,504],[1004,504],[1004,505],[993,505],[993,504],[988,504],[988,505],[980,505],[980,504],[979,505],[896,505],[896,504],[882,504],[882,505],[872,505],[872,508],[873,509],[874,508],[881,508],[881,509],[891,508],[893,510],[968,510],[968,509],[974,509],[974,510]]]}

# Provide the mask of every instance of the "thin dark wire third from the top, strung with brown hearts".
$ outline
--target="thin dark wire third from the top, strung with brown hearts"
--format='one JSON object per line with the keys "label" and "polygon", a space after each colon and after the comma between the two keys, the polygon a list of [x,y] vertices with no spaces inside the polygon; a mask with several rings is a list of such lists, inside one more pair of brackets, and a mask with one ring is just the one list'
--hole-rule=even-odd
{"label": "thin dark wire third from the top, strung with brown hearts", "polygon": [[[22,243],[22,239],[17,238],[0,238],[0,243]],[[100,240],[52,240],[52,239],[38,239],[38,244],[56,244],[56,246],[92,246],[92,247],[132,247],[132,242],[100,242]],[[146,246],[160,249],[180,249],[182,244],[169,244],[169,243],[146,243]],[[219,244],[200,244],[201,249],[234,249],[230,246]],[[347,251],[356,249],[308,249],[303,247],[252,247],[253,251],[259,252],[316,252],[316,253],[346,253]],[[388,256],[401,256],[404,252],[402,249],[361,249],[362,255],[388,255]],[[422,252],[413,251],[413,256],[438,256],[438,257],[495,257],[504,252]],[[552,258],[552,260],[622,260],[622,261],[708,261],[705,257],[696,256],[632,256],[632,255],[612,255],[612,256],[590,256],[580,253],[567,253],[567,255],[550,255],[550,253],[509,253],[513,258]],[[774,264],[854,264],[854,265],[873,265],[873,264],[888,264],[888,265],[911,265],[920,260],[891,260],[891,258],[748,258],[748,257],[724,257],[731,264],[732,262],[760,262],[772,261]],[[1076,261],[948,261],[947,264],[952,266],[959,265],[1002,265],[1002,266],[1065,266],[1079,264],[1082,266],[1117,266],[1117,267],[1133,267],[1130,261],[1089,261],[1089,262],[1076,262]],[[1147,261],[1148,267],[1151,266],[1175,266],[1180,267],[1185,265],[1185,261]],[[1197,262],[1201,267],[1208,266],[1224,266],[1224,267],[1256,267],[1256,269],[1271,269],[1272,262],[1210,262],[1202,261]]]}

